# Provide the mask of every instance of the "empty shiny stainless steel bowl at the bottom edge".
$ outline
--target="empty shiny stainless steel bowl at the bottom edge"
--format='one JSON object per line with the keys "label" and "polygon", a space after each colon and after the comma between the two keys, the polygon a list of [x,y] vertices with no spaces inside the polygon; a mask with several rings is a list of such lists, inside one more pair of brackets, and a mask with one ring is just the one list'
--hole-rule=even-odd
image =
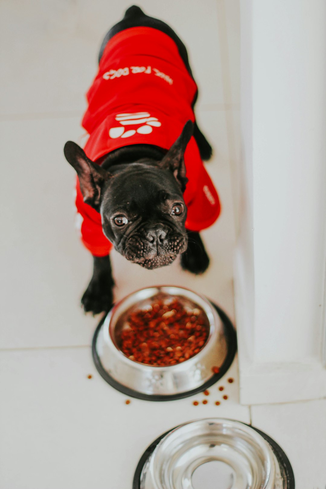
{"label": "empty shiny stainless steel bowl at the bottom edge", "polygon": [[292,468],[273,440],[218,418],[182,424],[154,442],[133,483],[133,489],[293,488]]}

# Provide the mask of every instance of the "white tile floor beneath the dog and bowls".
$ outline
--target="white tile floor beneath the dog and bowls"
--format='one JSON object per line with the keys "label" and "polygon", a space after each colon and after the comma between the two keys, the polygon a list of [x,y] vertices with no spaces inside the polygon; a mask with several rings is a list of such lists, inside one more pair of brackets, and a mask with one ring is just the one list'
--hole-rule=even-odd
{"label": "white tile floor beneath the dog and bowls", "polygon": [[[177,264],[150,272],[114,253],[116,298],[174,283],[206,294],[234,319],[230,168],[239,158],[239,1],[140,5],[169,22],[189,48],[200,88],[197,119],[215,149],[208,168],[223,213],[203,233],[212,257],[203,277]],[[62,148],[83,134],[84,93],[101,38],[128,6],[126,0],[1,2],[0,488],[127,489],[142,451],[169,427],[204,416],[244,422],[251,416],[288,453],[298,489],[325,489],[325,400],[240,406],[238,382],[224,378],[218,385],[229,399],[218,407],[217,386],[206,406],[193,406],[192,398],[127,406],[93,366],[97,321],[79,309],[91,258],[73,229],[74,172]],[[238,379],[237,361],[229,376]]]}

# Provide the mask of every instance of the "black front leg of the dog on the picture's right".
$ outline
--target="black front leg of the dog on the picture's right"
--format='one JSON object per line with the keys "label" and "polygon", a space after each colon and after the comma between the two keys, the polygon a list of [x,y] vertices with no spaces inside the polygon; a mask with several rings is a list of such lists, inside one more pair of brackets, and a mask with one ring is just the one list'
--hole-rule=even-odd
{"label": "black front leg of the dog on the picture's right", "polygon": [[181,267],[198,275],[204,273],[209,266],[209,257],[206,253],[205,246],[201,241],[199,233],[188,231],[188,246],[181,255]]}

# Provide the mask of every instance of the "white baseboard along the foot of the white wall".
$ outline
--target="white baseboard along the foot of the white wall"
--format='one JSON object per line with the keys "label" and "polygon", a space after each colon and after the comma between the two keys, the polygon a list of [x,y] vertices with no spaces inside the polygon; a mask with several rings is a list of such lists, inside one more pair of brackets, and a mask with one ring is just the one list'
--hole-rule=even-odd
{"label": "white baseboard along the foot of the white wall", "polygon": [[[253,304],[244,280],[243,260],[235,255],[234,288],[239,350],[241,404],[272,404],[326,397],[326,368],[322,358],[300,362],[255,361]],[[249,292],[249,294],[248,294]]]}

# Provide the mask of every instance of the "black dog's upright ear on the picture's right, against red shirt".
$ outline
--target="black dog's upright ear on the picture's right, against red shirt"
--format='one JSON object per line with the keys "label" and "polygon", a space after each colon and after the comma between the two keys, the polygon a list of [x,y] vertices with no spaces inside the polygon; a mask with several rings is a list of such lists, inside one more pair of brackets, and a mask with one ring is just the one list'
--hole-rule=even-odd
{"label": "black dog's upright ear on the picture's right, against red shirt", "polygon": [[171,146],[167,154],[160,162],[160,168],[171,170],[174,177],[180,184],[182,192],[186,189],[188,178],[186,177],[186,166],[184,163],[184,152],[186,151],[187,144],[190,141],[194,132],[194,124],[191,120],[186,122],[182,133],[179,135],[175,143]]}

